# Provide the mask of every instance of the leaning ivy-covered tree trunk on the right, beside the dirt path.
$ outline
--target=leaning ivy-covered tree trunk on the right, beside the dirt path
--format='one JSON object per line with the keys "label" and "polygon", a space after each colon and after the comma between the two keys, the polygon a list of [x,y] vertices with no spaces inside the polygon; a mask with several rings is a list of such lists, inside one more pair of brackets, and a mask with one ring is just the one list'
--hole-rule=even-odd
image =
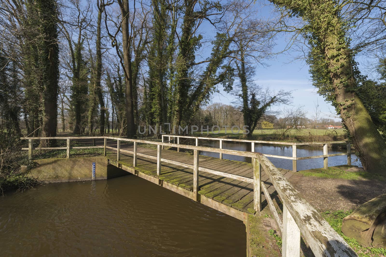
{"label": "leaning ivy-covered tree trunk on the right, beside the dirt path", "polygon": [[350,133],[364,169],[386,174],[386,144],[371,120],[357,89],[354,53],[350,49],[345,20],[337,2],[328,0],[273,0],[306,22],[302,28],[312,46],[308,63],[318,92],[332,102]]}

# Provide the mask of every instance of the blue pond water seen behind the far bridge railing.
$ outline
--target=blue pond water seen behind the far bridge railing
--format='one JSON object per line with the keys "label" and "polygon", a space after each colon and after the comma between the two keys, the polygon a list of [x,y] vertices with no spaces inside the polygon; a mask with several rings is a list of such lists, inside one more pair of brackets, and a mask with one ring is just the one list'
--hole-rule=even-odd
{"label": "blue pond water seen behind the far bridge railing", "polygon": [[[220,142],[218,140],[207,140],[207,141],[202,140],[200,142],[200,146],[219,148]],[[238,151],[251,151],[251,143],[223,141],[222,148],[230,149],[230,150],[238,150]],[[262,154],[272,154],[272,155],[292,157],[292,146],[255,143],[255,152],[260,152]],[[328,154],[339,154],[344,152],[347,152],[347,150],[328,148]],[[218,153],[213,153],[213,152],[200,151],[200,154],[212,156],[212,157],[218,157]],[[296,149],[296,154],[298,157],[323,155],[323,147],[298,145]],[[251,158],[244,157],[244,156],[223,154],[222,157],[223,159],[237,160],[242,162],[251,162]],[[292,170],[292,160],[273,158],[273,157],[268,157],[268,159],[277,168]],[[347,155],[328,157],[328,166],[337,166],[337,165],[344,165],[344,164],[347,164]],[[351,164],[362,167],[360,160],[358,160],[356,155],[354,154],[351,155]],[[297,168],[298,170],[323,168],[323,158],[298,160]]]}

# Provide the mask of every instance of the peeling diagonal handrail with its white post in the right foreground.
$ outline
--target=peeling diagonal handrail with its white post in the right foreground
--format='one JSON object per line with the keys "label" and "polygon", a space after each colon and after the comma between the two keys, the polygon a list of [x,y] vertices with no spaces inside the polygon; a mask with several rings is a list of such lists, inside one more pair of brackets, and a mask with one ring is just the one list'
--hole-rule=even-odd
{"label": "peeling diagonal handrail with its white post in the right foreground", "polygon": [[257,156],[283,202],[283,256],[300,255],[300,233],[315,256],[357,256],[347,242],[301,196],[267,157],[260,153]]}

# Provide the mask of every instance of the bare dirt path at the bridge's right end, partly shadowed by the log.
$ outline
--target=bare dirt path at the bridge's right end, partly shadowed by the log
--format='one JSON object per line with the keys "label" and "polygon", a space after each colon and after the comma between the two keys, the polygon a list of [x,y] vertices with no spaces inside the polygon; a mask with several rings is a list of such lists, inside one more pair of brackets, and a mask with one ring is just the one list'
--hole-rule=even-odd
{"label": "bare dirt path at the bridge's right end, partly shadowed by the log", "polygon": [[385,181],[323,179],[296,173],[289,182],[315,209],[322,211],[352,210],[386,193]]}

